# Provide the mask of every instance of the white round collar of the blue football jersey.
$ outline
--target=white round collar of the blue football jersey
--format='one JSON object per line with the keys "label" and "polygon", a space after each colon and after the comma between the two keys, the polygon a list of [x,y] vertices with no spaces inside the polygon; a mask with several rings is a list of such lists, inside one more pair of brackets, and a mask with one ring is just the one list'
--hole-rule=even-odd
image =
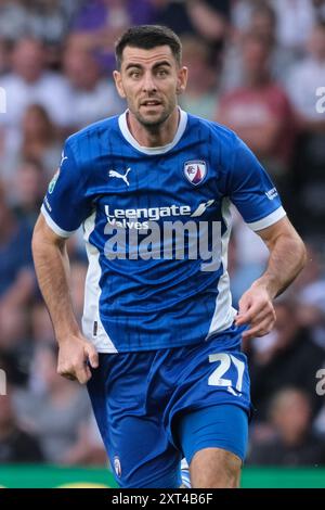
{"label": "white round collar of the blue football jersey", "polygon": [[179,122],[178,130],[176,132],[173,140],[167,145],[153,146],[153,148],[140,145],[138,141],[135,140],[135,138],[130,132],[128,122],[127,122],[128,110],[126,110],[126,112],[123,112],[118,117],[119,129],[122,136],[125,137],[125,139],[138,151],[143,152],[144,154],[165,154],[166,152],[170,151],[172,148],[177,145],[177,143],[180,141],[180,139],[182,138],[186,129],[187,114],[180,107],[179,107],[179,111],[180,111],[180,122]]}

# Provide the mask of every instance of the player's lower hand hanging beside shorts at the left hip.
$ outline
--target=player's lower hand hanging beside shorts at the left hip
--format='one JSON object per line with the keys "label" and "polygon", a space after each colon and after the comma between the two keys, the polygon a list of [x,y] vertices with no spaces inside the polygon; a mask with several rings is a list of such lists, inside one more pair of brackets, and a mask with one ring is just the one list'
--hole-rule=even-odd
{"label": "player's lower hand hanging beside shorts at the left hip", "polygon": [[57,373],[86,384],[91,379],[91,368],[98,368],[98,352],[82,335],[70,335],[58,343]]}

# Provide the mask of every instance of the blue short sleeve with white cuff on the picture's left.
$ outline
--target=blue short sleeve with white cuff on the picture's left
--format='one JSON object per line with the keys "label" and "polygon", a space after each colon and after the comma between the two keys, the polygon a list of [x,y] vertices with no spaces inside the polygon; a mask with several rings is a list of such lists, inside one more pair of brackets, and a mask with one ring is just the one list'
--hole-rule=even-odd
{"label": "blue short sleeve with white cuff on the picture's left", "polygon": [[57,235],[68,238],[90,216],[91,208],[91,200],[87,196],[87,175],[77,165],[67,141],[60,167],[49,184],[41,213]]}

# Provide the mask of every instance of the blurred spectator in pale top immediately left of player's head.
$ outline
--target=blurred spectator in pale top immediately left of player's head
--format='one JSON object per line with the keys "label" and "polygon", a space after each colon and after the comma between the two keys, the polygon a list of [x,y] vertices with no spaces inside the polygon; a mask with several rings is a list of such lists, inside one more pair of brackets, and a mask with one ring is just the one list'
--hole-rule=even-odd
{"label": "blurred spectator in pale top immediately left of player's head", "polygon": [[64,73],[70,94],[69,124],[75,130],[122,111],[112,79],[103,76],[93,52],[80,48],[73,37],[64,52]]}

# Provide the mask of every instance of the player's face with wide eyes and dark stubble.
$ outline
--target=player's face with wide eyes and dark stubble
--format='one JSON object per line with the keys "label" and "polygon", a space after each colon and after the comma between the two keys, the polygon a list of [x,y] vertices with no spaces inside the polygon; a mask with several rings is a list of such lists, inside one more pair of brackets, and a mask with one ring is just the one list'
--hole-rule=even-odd
{"label": "player's face with wide eyes and dark stubble", "polygon": [[114,78],[136,120],[153,127],[174,111],[178,94],[185,90],[187,69],[178,65],[168,46],[152,50],[126,47],[121,69],[114,72]]}

